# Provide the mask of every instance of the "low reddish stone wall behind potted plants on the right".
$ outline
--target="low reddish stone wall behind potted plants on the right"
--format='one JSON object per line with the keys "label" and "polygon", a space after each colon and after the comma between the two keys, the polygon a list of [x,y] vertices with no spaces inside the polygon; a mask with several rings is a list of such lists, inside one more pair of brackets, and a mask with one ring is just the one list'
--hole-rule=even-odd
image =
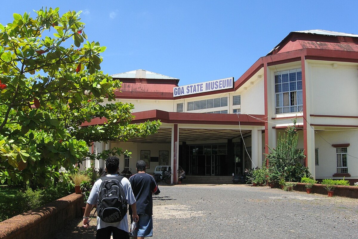
{"label": "low reddish stone wall behind potted plants on the right", "polygon": [[[306,184],[305,183],[297,183],[294,187],[296,191],[306,191]],[[312,193],[319,193],[328,195],[327,190],[323,187],[322,184],[314,184],[312,187]],[[337,185],[334,190],[335,196],[342,196],[342,197],[352,197],[357,199],[358,198],[358,187],[357,186],[341,186]]]}

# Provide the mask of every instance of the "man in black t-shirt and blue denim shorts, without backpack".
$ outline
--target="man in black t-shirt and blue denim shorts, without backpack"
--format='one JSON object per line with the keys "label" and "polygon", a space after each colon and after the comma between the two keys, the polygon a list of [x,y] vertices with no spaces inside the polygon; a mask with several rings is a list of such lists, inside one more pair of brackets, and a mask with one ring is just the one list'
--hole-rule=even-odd
{"label": "man in black t-shirt and blue denim shorts, without backpack", "polygon": [[137,174],[129,178],[134,197],[136,199],[137,214],[139,221],[137,228],[132,231],[134,238],[143,239],[147,236],[153,236],[153,197],[160,193],[158,185],[153,176],[147,174],[146,164],[140,160],[136,164]]}

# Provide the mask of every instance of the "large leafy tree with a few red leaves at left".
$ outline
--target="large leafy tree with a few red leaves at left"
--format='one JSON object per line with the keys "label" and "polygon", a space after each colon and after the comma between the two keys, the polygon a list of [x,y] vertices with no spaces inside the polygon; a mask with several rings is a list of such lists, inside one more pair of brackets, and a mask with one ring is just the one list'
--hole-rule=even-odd
{"label": "large leafy tree with a few red leaves at left", "polygon": [[[81,11],[45,8],[0,24],[0,182],[49,185],[58,169],[103,154],[92,142],[155,133],[159,121],[131,124],[134,105],[114,101],[121,82],[100,71],[106,47],[87,41]],[[86,41],[85,41],[86,40]],[[81,127],[96,117],[105,124]]]}

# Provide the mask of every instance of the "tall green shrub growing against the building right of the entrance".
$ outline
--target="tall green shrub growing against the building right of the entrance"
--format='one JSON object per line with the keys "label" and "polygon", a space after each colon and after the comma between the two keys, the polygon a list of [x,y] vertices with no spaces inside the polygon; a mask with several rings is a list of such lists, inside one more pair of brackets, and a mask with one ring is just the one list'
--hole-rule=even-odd
{"label": "tall green shrub growing against the building right of the entrance", "polygon": [[310,177],[307,167],[300,162],[306,158],[303,150],[297,150],[298,134],[296,130],[297,118],[292,120],[293,126],[288,126],[286,133],[277,139],[276,148],[269,150],[271,153],[265,154],[269,161],[269,173],[282,175],[287,182],[299,182],[301,177]]}

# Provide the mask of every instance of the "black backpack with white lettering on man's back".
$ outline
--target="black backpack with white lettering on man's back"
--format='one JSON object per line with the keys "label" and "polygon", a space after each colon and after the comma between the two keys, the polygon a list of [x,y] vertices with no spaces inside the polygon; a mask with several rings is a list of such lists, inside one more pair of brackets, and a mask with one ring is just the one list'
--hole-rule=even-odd
{"label": "black backpack with white lettering on man's back", "polygon": [[106,223],[117,223],[127,214],[127,200],[121,183],[123,176],[101,177],[97,215]]}

